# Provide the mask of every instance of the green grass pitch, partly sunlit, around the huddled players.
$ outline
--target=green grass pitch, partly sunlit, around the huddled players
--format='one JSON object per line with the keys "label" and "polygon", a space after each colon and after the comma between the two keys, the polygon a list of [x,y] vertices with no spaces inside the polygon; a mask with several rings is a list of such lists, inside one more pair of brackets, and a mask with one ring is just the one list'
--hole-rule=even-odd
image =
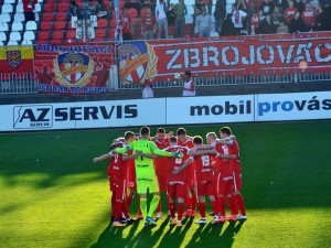
{"label": "green grass pitch, partly sunlit, around the huddled players", "polygon": [[[157,227],[109,225],[108,163],[92,159],[127,129],[1,134],[0,247],[329,247],[331,121],[231,127],[248,220],[199,226],[197,212],[181,229],[169,226],[164,193]],[[205,137],[220,126],[186,130]]]}

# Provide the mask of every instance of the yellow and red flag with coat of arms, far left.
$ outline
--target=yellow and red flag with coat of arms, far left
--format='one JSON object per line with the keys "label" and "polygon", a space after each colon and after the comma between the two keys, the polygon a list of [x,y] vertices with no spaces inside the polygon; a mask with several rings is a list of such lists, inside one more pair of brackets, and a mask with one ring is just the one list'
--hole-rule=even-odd
{"label": "yellow and red flag with coat of arms, far left", "polygon": [[0,47],[0,73],[33,73],[33,46]]}

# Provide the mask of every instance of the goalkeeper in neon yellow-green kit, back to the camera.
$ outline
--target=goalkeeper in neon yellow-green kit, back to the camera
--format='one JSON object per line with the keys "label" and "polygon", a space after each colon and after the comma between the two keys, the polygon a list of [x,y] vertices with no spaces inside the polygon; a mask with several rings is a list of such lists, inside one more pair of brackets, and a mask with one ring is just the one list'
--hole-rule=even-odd
{"label": "goalkeeper in neon yellow-green kit, back to the camera", "polygon": [[[145,154],[156,154],[160,157],[175,157],[182,158],[182,153],[175,152],[167,152],[161,151],[157,148],[156,143],[149,141],[150,130],[148,127],[142,127],[140,129],[140,140],[131,142],[129,145],[125,148],[117,148],[115,152],[125,153],[127,151],[132,151],[134,154],[145,153]],[[145,226],[149,226],[150,224],[157,225],[153,220],[152,215],[158,207],[160,200],[160,190],[158,177],[156,175],[156,169],[153,159],[139,155],[135,160],[136,166],[136,177],[137,177],[137,193],[140,195],[140,208],[142,212],[142,216],[145,218]],[[153,198],[150,204],[149,212],[147,214],[147,188],[149,188],[149,193],[153,193]]]}

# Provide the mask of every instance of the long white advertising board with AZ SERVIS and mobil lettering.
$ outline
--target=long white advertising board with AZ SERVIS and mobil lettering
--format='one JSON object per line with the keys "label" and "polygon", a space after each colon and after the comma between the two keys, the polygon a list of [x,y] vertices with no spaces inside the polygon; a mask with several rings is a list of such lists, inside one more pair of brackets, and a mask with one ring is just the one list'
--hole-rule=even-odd
{"label": "long white advertising board with AZ SERVIS and mobil lettering", "polygon": [[2,105],[0,131],[331,119],[331,91]]}

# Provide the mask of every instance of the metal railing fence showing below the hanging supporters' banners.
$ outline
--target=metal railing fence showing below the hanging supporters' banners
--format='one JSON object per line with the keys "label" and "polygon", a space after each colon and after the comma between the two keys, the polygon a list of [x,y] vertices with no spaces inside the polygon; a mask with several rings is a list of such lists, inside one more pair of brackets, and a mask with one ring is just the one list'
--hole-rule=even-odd
{"label": "metal railing fence showing below the hanging supporters' banners", "polygon": [[[117,66],[111,66],[109,73],[108,91],[141,89],[140,84],[124,85],[117,74]],[[254,84],[300,84],[303,82],[331,82],[331,73],[318,74],[286,74],[286,75],[256,75],[227,77],[194,77],[195,86],[225,86]],[[175,88],[182,82],[168,79],[153,82],[154,88]],[[0,94],[38,93],[38,86],[32,73],[0,73]]]}

